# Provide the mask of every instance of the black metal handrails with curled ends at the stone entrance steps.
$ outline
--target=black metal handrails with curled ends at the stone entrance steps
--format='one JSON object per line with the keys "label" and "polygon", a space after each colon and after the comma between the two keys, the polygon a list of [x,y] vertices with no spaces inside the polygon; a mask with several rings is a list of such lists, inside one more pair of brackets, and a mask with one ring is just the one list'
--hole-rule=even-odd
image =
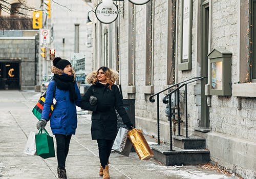
{"label": "black metal handrails with curled ends at the stone entrance steps", "polygon": [[[165,97],[163,98],[163,103],[169,103],[169,115],[168,115],[168,120],[169,120],[169,128],[170,128],[170,150],[173,150],[173,137],[172,137],[172,103],[171,103],[171,96],[173,93],[175,92],[179,92],[178,90],[185,86],[185,114],[186,114],[186,138],[187,138],[187,84],[191,83],[191,82],[195,82],[198,80],[201,80],[203,78],[207,78],[207,77],[194,77],[194,78],[190,78],[188,80],[182,81],[180,83],[177,84],[173,84],[165,89],[163,89],[162,91],[155,93],[154,95],[150,96],[150,102],[155,102],[155,99],[153,99],[153,97],[157,96],[157,145],[160,145],[160,119],[159,119],[159,94],[165,92],[168,89],[171,89],[172,91],[170,91],[167,95],[165,95]],[[174,88],[175,87],[175,88]],[[174,89],[173,89],[174,88]],[[167,102],[168,99],[168,102]],[[179,95],[178,95],[178,99],[179,99]],[[179,114],[179,100],[178,101],[178,116]],[[180,117],[178,117],[178,133],[180,135]]]}

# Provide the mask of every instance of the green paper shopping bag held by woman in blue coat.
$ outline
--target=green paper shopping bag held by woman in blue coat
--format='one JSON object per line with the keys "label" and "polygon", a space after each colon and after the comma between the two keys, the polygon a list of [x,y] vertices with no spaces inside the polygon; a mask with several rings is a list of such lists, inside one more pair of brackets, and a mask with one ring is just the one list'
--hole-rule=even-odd
{"label": "green paper shopping bag held by woman in blue coat", "polygon": [[[44,133],[42,132],[44,131]],[[35,135],[36,152],[41,158],[47,159],[55,157],[53,137],[49,135],[46,129],[40,128]]]}

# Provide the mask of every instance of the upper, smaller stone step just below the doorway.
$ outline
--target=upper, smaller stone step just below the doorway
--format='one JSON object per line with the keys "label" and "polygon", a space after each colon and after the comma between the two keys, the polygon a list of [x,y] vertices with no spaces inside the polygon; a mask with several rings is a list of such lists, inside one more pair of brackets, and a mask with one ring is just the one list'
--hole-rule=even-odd
{"label": "upper, smaller stone step just below the doorway", "polygon": [[198,136],[173,136],[174,146],[182,149],[204,149],[205,139]]}

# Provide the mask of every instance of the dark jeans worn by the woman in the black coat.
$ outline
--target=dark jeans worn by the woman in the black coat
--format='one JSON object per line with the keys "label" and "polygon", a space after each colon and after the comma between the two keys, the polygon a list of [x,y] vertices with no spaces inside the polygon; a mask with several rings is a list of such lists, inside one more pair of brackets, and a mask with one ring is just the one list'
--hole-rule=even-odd
{"label": "dark jeans worn by the woman in the black coat", "polygon": [[100,164],[103,168],[105,168],[105,166],[108,165],[114,140],[97,139],[97,143],[99,148]]}

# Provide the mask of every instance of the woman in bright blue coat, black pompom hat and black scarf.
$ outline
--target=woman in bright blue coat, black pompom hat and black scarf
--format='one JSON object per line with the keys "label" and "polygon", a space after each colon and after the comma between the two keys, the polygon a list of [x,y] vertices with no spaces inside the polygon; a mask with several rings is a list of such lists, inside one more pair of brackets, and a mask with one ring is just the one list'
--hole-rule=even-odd
{"label": "woman in bright blue coat, black pompom hat and black scarf", "polygon": [[[81,96],[75,81],[75,73],[68,60],[55,58],[51,72],[54,74],[53,81],[48,85],[41,120],[37,122],[36,127],[37,129],[44,128],[50,121],[52,133],[56,138],[58,177],[65,179],[67,178],[65,164],[69,144],[77,127],[76,105],[80,106]],[[49,118],[53,97],[56,99],[56,104]]]}

